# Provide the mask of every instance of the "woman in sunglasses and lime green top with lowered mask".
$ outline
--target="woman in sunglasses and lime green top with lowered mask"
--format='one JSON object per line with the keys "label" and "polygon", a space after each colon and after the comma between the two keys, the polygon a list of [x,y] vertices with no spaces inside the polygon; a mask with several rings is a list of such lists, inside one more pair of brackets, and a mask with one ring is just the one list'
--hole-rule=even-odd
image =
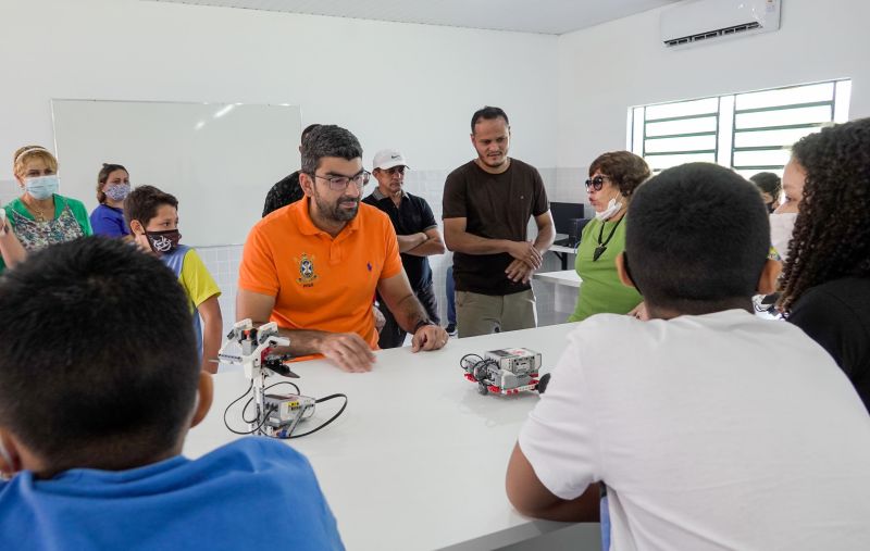
{"label": "woman in sunglasses and lime green top with lowered mask", "polygon": [[581,234],[574,266],[582,283],[569,322],[593,314],[627,314],[643,301],[636,289],[620,283],[616,258],[625,249],[629,201],[649,175],[646,162],[629,151],[604,153],[589,166],[586,193],[595,218]]}

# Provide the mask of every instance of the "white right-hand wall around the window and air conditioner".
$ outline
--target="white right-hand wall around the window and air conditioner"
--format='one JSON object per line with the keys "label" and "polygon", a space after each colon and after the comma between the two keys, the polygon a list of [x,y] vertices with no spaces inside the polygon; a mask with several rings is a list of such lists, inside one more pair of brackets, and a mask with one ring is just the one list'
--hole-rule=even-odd
{"label": "white right-hand wall around the window and air conditioner", "polygon": [[[651,10],[559,38],[559,186],[625,149],[627,108],[853,78],[850,117],[870,115],[870,2],[782,0],[779,32],[666,50]],[[580,167],[580,171],[571,170]]]}

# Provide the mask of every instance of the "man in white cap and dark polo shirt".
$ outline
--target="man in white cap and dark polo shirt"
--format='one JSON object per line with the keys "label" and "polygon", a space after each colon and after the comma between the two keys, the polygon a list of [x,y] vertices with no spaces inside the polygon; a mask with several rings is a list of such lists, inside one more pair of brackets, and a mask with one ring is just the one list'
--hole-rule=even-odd
{"label": "man in white cap and dark polo shirt", "polygon": [[[408,171],[405,156],[396,150],[384,149],[374,155],[372,175],[377,179],[375,190],[363,202],[385,212],[393,222],[399,240],[401,263],[408,275],[414,295],[426,309],[430,320],[439,323],[438,301],[432,285],[432,268],[428,259],[432,254],[444,254],[444,240],[432,209],[425,199],[405,191],[405,173]],[[396,348],[405,343],[406,333],[396,318],[380,300],[381,312],[386,325],[381,329],[377,346]]]}

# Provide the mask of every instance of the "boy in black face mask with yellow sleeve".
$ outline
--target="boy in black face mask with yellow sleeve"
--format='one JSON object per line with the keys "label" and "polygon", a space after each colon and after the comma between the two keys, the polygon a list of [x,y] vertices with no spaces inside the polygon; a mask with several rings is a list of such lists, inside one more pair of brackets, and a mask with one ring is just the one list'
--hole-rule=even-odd
{"label": "boy in black face mask with yellow sleeve", "polygon": [[178,242],[178,200],[153,186],[140,186],[124,200],[124,217],[136,245],[160,258],[178,277],[190,299],[202,370],[216,373],[217,364],[211,360],[221,347],[221,289],[199,254]]}

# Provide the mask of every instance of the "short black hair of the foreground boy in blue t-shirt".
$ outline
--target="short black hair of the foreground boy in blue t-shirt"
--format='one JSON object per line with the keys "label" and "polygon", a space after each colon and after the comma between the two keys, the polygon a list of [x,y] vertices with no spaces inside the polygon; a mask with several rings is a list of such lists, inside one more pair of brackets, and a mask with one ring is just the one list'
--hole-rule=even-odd
{"label": "short black hair of the foreground boy in blue t-shirt", "polygon": [[177,444],[199,360],[159,259],[87,237],[0,278],[0,424],[54,469],[144,464]]}

